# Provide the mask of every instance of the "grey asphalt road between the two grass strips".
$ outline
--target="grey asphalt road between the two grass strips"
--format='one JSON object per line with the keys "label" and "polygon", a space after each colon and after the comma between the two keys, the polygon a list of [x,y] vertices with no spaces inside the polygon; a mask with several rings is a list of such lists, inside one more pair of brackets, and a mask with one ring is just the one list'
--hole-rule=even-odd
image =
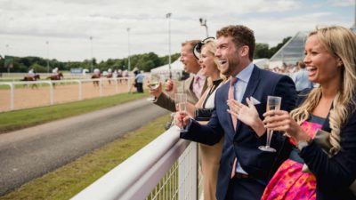
{"label": "grey asphalt road between the two grass strips", "polygon": [[0,134],[0,196],[167,113],[142,99]]}

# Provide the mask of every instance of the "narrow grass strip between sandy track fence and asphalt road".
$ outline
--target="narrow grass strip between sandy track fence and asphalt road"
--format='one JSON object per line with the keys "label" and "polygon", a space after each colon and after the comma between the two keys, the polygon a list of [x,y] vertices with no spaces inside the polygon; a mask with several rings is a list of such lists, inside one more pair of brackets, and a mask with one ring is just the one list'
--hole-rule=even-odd
{"label": "narrow grass strip between sandy track fence and asphalt road", "polygon": [[148,93],[121,93],[109,97],[81,100],[66,104],[41,108],[21,109],[0,113],[0,133],[19,130],[36,124],[44,124],[53,120],[77,116],[101,108],[109,108],[130,100],[149,96]]}

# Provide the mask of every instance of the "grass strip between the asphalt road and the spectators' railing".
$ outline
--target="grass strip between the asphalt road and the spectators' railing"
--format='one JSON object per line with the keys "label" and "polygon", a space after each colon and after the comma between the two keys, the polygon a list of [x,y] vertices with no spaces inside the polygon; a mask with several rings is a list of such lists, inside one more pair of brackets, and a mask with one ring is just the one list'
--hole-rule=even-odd
{"label": "grass strip between the asphalt road and the spectators' railing", "polygon": [[[0,200],[9,199],[69,199],[99,179],[117,164],[144,147],[165,131],[169,115],[142,126],[142,128],[114,140],[103,148],[78,158],[60,169],[32,180]],[[118,180],[119,181],[119,180]]]}

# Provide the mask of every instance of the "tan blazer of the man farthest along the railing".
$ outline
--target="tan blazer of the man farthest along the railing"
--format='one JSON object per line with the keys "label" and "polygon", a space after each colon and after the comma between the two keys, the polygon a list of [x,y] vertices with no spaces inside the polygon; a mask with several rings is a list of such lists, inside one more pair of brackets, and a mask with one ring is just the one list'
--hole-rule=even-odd
{"label": "tan blazer of the man farthest along the railing", "polygon": [[[194,81],[194,76],[190,76],[189,78],[185,79],[182,84],[182,92],[187,94],[187,101],[196,104],[198,102],[198,97],[195,95],[193,92],[193,81]],[[206,91],[207,88],[207,78],[206,82],[204,83],[203,86],[203,91],[201,92],[202,94]],[[154,102],[156,105],[166,108],[172,112],[175,112],[175,103],[174,99],[171,98],[166,92],[162,92],[161,95],[159,95],[158,99]]]}

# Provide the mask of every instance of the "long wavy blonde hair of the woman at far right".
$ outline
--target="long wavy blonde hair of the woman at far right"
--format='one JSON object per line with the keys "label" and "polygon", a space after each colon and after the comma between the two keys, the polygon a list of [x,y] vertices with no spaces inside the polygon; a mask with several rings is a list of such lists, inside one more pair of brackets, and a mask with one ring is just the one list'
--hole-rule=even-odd
{"label": "long wavy blonde hair of the woman at far right", "polygon": [[[342,61],[339,92],[333,101],[334,108],[330,110],[328,116],[331,128],[329,142],[332,146],[328,153],[336,155],[341,149],[341,129],[356,106],[353,99],[356,91],[356,36],[350,29],[339,26],[317,28],[309,36],[317,36],[328,52]],[[309,118],[312,110],[319,104],[321,96],[320,87],[313,89],[303,104],[291,112],[291,116],[298,124]]]}

